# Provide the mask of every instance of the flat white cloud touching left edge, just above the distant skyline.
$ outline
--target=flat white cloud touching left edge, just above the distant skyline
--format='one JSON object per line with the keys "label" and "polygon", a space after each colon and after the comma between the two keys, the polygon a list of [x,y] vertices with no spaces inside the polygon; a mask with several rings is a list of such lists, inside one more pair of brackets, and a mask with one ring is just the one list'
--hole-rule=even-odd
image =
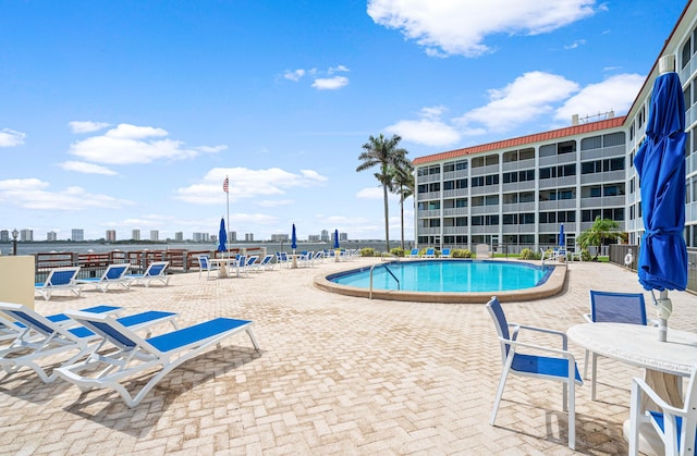
{"label": "flat white cloud touching left edge, just above the distant skyline", "polygon": [[82,187],[49,192],[50,184],[38,178],[0,181],[0,202],[22,209],[82,211],[94,208],[120,209],[132,201],[90,194]]}

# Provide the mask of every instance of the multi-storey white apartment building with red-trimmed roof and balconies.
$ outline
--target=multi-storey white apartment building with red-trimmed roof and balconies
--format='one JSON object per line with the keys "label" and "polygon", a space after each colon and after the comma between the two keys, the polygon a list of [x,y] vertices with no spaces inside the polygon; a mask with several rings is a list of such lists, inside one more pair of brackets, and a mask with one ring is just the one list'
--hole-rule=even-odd
{"label": "multi-storey white apartment building with red-trimmed roof and balconies", "polygon": [[477,244],[548,248],[564,224],[566,247],[597,217],[616,221],[631,244],[644,232],[634,157],[645,138],[659,59],[676,63],[686,109],[685,239],[697,246],[697,7],[690,1],[624,116],[414,159],[415,238],[419,246]]}

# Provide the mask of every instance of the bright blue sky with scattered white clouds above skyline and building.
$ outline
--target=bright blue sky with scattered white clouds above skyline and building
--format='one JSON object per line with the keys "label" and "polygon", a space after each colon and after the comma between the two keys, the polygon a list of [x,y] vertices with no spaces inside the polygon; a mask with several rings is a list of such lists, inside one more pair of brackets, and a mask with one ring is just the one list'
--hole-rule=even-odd
{"label": "bright blue sky with scattered white clouds above skyline and building", "polygon": [[369,135],[414,159],[622,115],[684,5],[0,0],[0,229],[215,234],[229,175],[239,237],[384,238]]}

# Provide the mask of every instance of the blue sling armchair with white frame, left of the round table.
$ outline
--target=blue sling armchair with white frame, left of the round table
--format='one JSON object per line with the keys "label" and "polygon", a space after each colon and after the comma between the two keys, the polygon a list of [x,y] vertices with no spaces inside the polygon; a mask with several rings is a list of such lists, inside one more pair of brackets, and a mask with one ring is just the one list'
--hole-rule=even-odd
{"label": "blue sling armchair with white frame, left of the round table", "polygon": [[[489,424],[493,426],[497,419],[497,411],[499,410],[499,404],[503,396],[503,389],[509,373],[562,382],[564,384],[563,408],[564,411],[568,410],[568,447],[574,449],[576,446],[576,415],[574,405],[576,397],[575,385],[583,384],[583,380],[578,373],[578,367],[576,366],[574,355],[567,350],[566,334],[561,331],[509,323],[505,315],[503,313],[501,303],[499,303],[499,299],[496,296],[487,304],[487,310],[493,320],[493,324],[499,335],[499,343],[501,344],[501,360],[503,361],[501,379],[499,380],[499,389],[493,402],[493,409],[491,410]],[[517,337],[521,330],[536,331],[547,335],[557,335],[562,341],[561,349],[518,342]],[[530,349],[534,353],[546,352],[550,354],[550,356],[528,355],[521,353],[518,348]]]}

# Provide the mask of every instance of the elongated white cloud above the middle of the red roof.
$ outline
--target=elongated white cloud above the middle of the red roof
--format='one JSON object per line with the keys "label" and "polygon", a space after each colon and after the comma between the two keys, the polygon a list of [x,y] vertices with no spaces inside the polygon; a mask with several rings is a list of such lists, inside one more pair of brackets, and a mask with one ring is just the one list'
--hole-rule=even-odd
{"label": "elongated white cloud above the middle of the red roof", "polygon": [[[535,121],[554,110],[559,103],[578,90],[578,84],[550,73],[530,72],[517,77],[502,89],[489,90],[489,103],[473,109],[455,122],[463,128],[506,132]],[[480,126],[473,126],[480,124]]]}

